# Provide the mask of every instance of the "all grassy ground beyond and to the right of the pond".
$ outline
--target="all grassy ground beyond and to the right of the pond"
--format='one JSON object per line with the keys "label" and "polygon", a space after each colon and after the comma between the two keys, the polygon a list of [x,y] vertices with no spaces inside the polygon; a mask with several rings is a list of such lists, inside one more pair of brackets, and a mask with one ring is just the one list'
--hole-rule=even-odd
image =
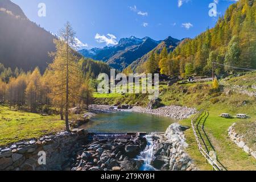
{"label": "all grassy ground beyond and to the right of the pond", "polygon": [[[249,97],[245,94],[237,92],[224,92],[225,86],[240,85],[247,90],[251,90],[251,85],[255,84],[256,73],[249,73],[241,77],[233,77],[227,80],[221,80],[220,92],[213,92],[212,82],[203,83],[177,83],[167,87],[160,85],[160,100],[163,105],[180,105],[196,107],[198,110],[207,109],[209,115],[204,120],[204,130],[207,145],[210,150],[215,150],[218,161],[227,170],[256,170],[256,160],[243,152],[236,144],[229,139],[228,128],[237,122],[243,133],[248,133],[256,121],[256,98]],[[97,100],[97,99],[96,99]],[[145,106],[148,102],[146,96],[118,96],[115,98],[101,98],[101,101],[109,101],[114,104],[117,101],[125,104],[133,104],[138,102],[141,106]],[[250,119],[225,119],[218,115],[221,113],[229,113],[236,115],[238,113],[248,114]],[[181,125],[191,126],[191,120],[185,119],[180,121]],[[241,123],[241,124],[240,124]],[[254,126],[254,125],[253,125]],[[201,126],[200,126],[201,127]],[[254,128],[255,130],[255,128]],[[249,132],[250,133],[250,132]],[[212,170],[209,164],[206,164],[203,156],[197,149],[196,140],[192,129],[185,131],[189,147],[187,152],[195,160],[195,163],[201,170]],[[248,135],[248,141],[251,146],[255,145],[255,135]]]}

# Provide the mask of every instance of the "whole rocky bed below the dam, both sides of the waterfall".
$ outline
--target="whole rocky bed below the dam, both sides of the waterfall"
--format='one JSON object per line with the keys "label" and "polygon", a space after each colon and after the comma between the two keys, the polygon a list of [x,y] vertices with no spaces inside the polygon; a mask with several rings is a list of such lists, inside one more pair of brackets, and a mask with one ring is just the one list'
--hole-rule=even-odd
{"label": "whole rocky bed below the dam, both sides of the waterfall", "polygon": [[[188,147],[183,133],[185,129],[187,127],[174,123],[168,127],[165,134],[151,134],[146,137],[132,137],[130,139],[118,137],[115,139],[93,139],[92,142],[82,146],[81,150],[77,152],[73,159],[72,170],[198,170],[193,160],[185,152],[185,148]],[[152,141],[149,142],[148,138],[151,138]]]}

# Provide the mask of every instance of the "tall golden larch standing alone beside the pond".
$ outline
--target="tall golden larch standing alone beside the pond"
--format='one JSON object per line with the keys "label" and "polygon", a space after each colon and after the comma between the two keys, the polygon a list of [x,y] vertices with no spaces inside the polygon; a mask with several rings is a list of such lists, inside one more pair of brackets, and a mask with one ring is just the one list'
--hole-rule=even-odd
{"label": "tall golden larch standing alone beside the pond", "polygon": [[55,58],[53,63],[49,65],[49,69],[53,72],[52,93],[58,97],[61,96],[61,100],[65,103],[67,131],[69,131],[69,105],[77,100],[81,85],[81,69],[79,64],[77,64],[77,57],[74,51],[77,43],[75,36],[75,31],[73,31],[71,24],[67,22],[59,32],[59,40],[54,40],[56,52],[51,55]]}

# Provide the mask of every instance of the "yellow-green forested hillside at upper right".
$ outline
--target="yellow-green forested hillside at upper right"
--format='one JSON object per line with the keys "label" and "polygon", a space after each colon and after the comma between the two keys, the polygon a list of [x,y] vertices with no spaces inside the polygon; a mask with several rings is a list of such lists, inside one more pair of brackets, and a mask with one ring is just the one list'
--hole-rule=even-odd
{"label": "yellow-green forested hillside at upper right", "polygon": [[[151,52],[154,56],[147,60],[148,65],[155,65],[151,71],[183,77],[208,75],[212,71],[213,61],[256,69],[255,12],[254,0],[234,3],[218,19],[214,28],[208,28],[195,39],[183,40],[170,54],[162,52],[159,57],[157,52]],[[142,65],[142,70],[148,71],[146,64]],[[218,66],[214,70],[217,75],[233,71],[228,67]]]}

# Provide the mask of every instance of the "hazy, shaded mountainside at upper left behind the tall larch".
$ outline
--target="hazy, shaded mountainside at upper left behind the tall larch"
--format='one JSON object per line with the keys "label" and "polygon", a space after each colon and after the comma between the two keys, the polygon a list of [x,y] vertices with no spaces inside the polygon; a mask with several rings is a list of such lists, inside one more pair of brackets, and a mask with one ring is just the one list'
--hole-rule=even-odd
{"label": "hazy, shaded mountainside at upper left behind the tall larch", "polygon": [[18,5],[0,1],[0,63],[24,71],[39,67],[44,71],[55,51],[55,36],[31,22]]}

